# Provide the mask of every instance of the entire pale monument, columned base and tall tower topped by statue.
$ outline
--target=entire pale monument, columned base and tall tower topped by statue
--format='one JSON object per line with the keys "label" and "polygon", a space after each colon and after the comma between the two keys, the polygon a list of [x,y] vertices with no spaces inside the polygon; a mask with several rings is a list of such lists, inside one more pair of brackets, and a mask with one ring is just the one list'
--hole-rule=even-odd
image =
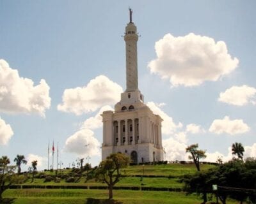
{"label": "entire pale monument, columned base and tall tower topped by statue", "polygon": [[102,113],[102,160],[113,152],[131,157],[132,163],[163,161],[161,122],[143,103],[138,89],[137,41],[138,34],[132,22],[125,27],[126,91],[116,103],[115,111]]}

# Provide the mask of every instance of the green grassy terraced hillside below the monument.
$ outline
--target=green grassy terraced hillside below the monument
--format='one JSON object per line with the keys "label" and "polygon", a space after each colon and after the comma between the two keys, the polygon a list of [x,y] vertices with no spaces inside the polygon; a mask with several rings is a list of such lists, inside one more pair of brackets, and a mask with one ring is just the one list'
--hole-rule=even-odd
{"label": "green grassy terraced hillside below the monument", "polygon": [[[202,164],[202,171],[213,168],[211,164]],[[8,189],[4,192],[4,198],[15,198],[13,204],[23,203],[106,203],[108,198],[107,189],[90,189],[94,187],[106,187],[106,184],[97,182],[95,179],[86,180],[87,172],[81,177],[76,177],[75,170],[62,170],[58,172],[58,182],[45,182],[45,177],[56,175],[55,172],[45,171],[37,173],[35,181],[26,180],[19,187],[28,189]],[[159,165],[136,165],[122,170],[124,177],[116,184],[116,187],[136,187],[137,191],[115,189],[114,199],[117,203],[201,203],[200,198],[195,195],[186,196],[183,192],[170,191],[143,191],[143,188],[173,188],[182,190],[179,178],[184,174],[195,173],[194,164],[159,164]],[[74,174],[77,182],[66,182],[67,177]],[[41,178],[41,179],[40,179]],[[61,179],[62,178],[62,179]],[[142,184],[142,185],[141,185]],[[38,189],[36,186],[45,186]],[[67,189],[75,186],[83,189]],[[141,187],[143,186],[143,187]],[[61,187],[60,189],[47,189],[47,187]],[[86,189],[84,189],[86,188]],[[88,189],[87,189],[88,188]],[[155,189],[155,190],[156,190]],[[234,203],[228,201],[227,203]]]}

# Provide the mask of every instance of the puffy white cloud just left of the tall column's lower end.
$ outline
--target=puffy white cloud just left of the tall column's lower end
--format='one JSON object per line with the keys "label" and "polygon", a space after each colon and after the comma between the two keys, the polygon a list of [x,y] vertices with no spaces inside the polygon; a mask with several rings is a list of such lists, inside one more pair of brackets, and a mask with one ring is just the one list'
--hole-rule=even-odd
{"label": "puffy white cloud just left of the tall column's lower end", "polygon": [[58,110],[76,115],[94,112],[101,106],[115,104],[119,101],[121,92],[123,89],[120,85],[100,75],[85,87],[65,89],[62,96],[63,104],[58,105]]}

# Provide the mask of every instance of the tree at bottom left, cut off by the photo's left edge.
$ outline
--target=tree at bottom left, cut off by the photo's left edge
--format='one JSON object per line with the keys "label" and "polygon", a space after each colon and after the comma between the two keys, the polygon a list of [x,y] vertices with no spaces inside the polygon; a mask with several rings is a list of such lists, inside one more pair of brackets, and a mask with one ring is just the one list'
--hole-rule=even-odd
{"label": "tree at bottom left, cut off by the photo's left edge", "polygon": [[14,170],[16,166],[9,166],[10,159],[7,156],[0,158],[0,203],[3,192],[13,184]]}

